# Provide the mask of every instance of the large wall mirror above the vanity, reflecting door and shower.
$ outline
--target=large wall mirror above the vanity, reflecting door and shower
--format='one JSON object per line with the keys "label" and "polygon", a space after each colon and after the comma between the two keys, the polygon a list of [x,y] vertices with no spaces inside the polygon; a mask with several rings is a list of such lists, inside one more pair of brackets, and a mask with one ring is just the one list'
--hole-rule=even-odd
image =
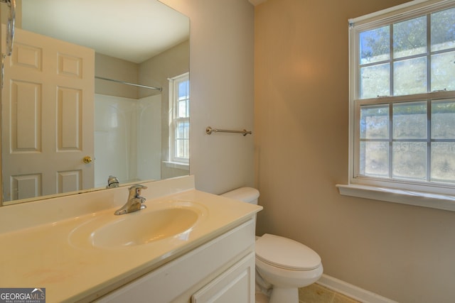
{"label": "large wall mirror above the vanity, reflecting door and shower", "polygon": [[[6,9],[7,6],[1,4],[2,23],[6,23]],[[59,103],[60,97],[54,102],[55,109],[41,107],[46,101],[39,88],[43,85],[33,87],[34,82],[27,77],[18,79],[16,74],[12,77],[8,73],[9,66],[14,65],[11,62],[27,56],[38,62],[44,55],[38,50],[40,48],[35,51],[34,48],[24,47],[28,43],[15,38],[13,55],[5,60],[8,67],[5,68],[4,87],[8,89],[2,89],[1,94],[2,111],[8,109],[8,113],[2,113],[1,128],[8,128],[3,123],[9,123],[11,129],[2,131],[4,188],[0,205],[35,201],[55,197],[55,194],[105,189],[109,175],[117,177],[120,184],[188,175],[188,161],[169,159],[169,145],[172,144],[169,143],[168,131],[170,113],[173,111],[173,106],[169,105],[169,96],[173,95],[172,79],[181,75],[188,77],[189,73],[188,17],[157,0],[16,0],[16,28],[17,31],[79,45],[81,52],[75,51],[76,46],[70,46],[76,55],[68,55],[61,61],[58,59],[58,68],[61,65],[64,71],[74,68],[81,72],[79,54],[83,53],[84,48],[94,50],[95,77],[89,81],[93,85],[90,95],[94,97],[92,105],[88,106],[91,112],[83,117],[82,114],[76,115],[79,121],[74,112],[82,108],[77,103],[80,96],[77,92],[73,94],[70,89],[72,84],[68,82],[55,84],[57,92],[54,93],[60,97],[68,95],[70,99],[77,99],[74,110],[71,107],[65,109]],[[2,52],[4,39],[2,33]],[[44,40],[38,38],[38,41]],[[53,40],[50,41],[52,43]],[[65,50],[58,50],[57,53],[67,54]],[[33,61],[25,60],[27,64]],[[36,63],[39,68],[40,64]],[[36,97],[35,103],[30,106],[16,101],[15,98],[21,97],[21,94],[30,93],[28,90],[42,99],[36,101],[39,99]],[[4,91],[8,91],[8,94],[5,95]],[[87,93],[81,95],[84,94]],[[16,102],[16,107],[5,106],[6,101],[11,104]],[[30,111],[31,107],[38,111]],[[25,114],[21,115],[21,112]],[[49,124],[50,118],[45,116],[48,112],[54,113],[51,116],[57,116],[56,121],[52,122],[58,128],[55,136],[60,136],[56,141],[70,142],[74,139],[76,143],[68,143],[70,148],[65,148],[65,143],[53,142],[50,144],[57,145],[54,149],[60,154],[28,158],[44,153],[45,143],[41,141],[44,141],[45,135],[39,132],[44,130],[45,123]],[[5,115],[9,118],[5,119]],[[11,121],[5,122],[10,118]],[[65,130],[66,126],[72,125],[70,123],[73,123],[73,133]],[[11,133],[15,133],[16,137],[9,136]],[[84,148],[90,145],[80,141],[80,137],[87,133],[90,134],[87,137],[92,142],[92,150],[82,152],[82,145]],[[26,146],[27,140],[35,145],[32,148]],[[21,144],[26,148],[17,148]],[[77,151],[76,160],[70,158],[72,150]],[[11,160],[9,155],[15,151],[21,154],[21,158]],[[60,169],[57,167],[58,162],[74,162],[74,165]],[[45,177],[41,168],[34,166],[36,163],[45,167],[45,170],[50,168],[48,175],[52,177]],[[9,168],[16,169],[19,165],[23,167],[15,171]],[[87,167],[91,169],[89,178],[85,178],[87,173],[82,172]],[[50,184],[50,189],[46,189],[45,184]]]}

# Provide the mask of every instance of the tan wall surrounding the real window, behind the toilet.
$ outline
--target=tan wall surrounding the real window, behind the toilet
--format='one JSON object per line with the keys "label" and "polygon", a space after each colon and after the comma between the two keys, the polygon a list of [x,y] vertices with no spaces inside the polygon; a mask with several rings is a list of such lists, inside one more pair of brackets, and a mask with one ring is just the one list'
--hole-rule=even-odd
{"label": "tan wall surrounding the real window, behind the toilet", "polygon": [[258,234],[314,248],[326,274],[398,302],[454,302],[455,213],[342,197],[348,18],[402,0],[268,0],[255,8]]}

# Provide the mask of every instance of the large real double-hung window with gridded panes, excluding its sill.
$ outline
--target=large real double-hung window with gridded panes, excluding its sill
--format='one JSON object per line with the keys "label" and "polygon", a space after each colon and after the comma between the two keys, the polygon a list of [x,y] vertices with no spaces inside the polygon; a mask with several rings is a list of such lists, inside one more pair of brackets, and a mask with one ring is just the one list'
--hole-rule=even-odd
{"label": "large real double-hung window with gridded panes, excluding its sill", "polygon": [[350,184],[453,195],[455,1],[352,19],[349,39]]}

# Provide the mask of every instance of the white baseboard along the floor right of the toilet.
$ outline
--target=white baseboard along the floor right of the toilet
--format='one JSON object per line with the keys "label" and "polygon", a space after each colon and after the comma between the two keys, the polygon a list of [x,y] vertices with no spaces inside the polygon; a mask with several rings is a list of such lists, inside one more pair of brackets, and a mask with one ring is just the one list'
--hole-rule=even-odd
{"label": "white baseboard along the floor right of the toilet", "polygon": [[326,274],[323,274],[316,283],[364,303],[397,303],[396,301],[382,297],[379,294],[363,290],[360,287],[338,280],[335,277],[331,277]]}

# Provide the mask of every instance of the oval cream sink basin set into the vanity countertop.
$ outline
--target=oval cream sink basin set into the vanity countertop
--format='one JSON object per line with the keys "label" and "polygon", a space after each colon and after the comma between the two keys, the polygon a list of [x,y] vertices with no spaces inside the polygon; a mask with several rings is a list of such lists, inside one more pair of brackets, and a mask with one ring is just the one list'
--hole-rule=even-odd
{"label": "oval cream sink basin set into the vanity countertop", "polygon": [[184,238],[205,212],[193,202],[173,203],[158,209],[149,206],[120,216],[109,212],[75,228],[70,234],[70,243],[75,246],[122,248],[166,238]]}

